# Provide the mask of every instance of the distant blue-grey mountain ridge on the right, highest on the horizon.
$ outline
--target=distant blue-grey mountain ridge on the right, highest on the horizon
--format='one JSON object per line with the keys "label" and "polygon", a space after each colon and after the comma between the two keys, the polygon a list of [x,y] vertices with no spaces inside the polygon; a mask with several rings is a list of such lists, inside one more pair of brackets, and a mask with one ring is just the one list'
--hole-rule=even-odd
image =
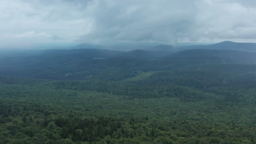
{"label": "distant blue-grey mountain ridge on the right, highest on the horizon", "polygon": [[179,48],[179,50],[191,50],[191,49],[236,50],[236,51],[256,52],[256,44],[223,41],[221,43],[211,44],[211,45],[190,45],[190,46],[183,46]]}

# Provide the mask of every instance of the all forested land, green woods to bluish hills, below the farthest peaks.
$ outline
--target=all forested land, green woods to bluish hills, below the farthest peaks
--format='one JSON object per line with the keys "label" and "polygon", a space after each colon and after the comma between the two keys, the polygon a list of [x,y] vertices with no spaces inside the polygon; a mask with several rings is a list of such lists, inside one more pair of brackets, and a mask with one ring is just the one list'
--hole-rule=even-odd
{"label": "all forested land, green woods to bluish hills, below the farthest peaks", "polygon": [[256,143],[254,53],[148,53],[2,56],[0,144]]}

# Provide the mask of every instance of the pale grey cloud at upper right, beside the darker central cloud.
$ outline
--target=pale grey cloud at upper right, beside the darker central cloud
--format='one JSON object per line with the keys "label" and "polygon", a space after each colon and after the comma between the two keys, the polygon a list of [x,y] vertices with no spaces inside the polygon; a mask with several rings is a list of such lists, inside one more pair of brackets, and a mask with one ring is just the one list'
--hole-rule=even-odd
{"label": "pale grey cloud at upper right, beside the darker central cloud", "polygon": [[197,3],[198,11],[201,13],[197,15],[195,25],[197,32],[193,34],[198,35],[197,40],[208,41],[254,39],[255,6],[252,1],[218,0]]}

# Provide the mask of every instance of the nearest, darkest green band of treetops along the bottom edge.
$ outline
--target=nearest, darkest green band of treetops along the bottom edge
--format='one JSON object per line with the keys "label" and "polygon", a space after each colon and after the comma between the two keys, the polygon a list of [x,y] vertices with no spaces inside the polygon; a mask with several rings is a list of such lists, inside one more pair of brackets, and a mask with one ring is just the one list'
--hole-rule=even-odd
{"label": "nearest, darkest green band of treetops along the bottom edge", "polygon": [[[39,112],[30,103],[15,101],[4,101],[0,106],[14,110],[9,113],[11,116],[5,117],[4,113],[0,116],[4,121],[0,133],[2,143],[252,143],[252,135],[255,136],[255,125],[251,124],[206,123],[179,118],[147,121],[121,115],[109,117],[55,111],[44,105],[40,105],[43,111]],[[19,113],[15,112],[17,110]],[[44,111],[49,111],[50,115],[45,115]],[[34,120],[24,122],[24,116],[20,115],[25,113]]]}

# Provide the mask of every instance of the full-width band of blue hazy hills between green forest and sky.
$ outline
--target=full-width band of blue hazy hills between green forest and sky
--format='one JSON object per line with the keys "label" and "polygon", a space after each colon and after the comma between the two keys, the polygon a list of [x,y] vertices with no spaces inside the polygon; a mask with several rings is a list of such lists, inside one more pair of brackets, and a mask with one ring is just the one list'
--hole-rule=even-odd
{"label": "full-width band of blue hazy hills between green forest and sky", "polygon": [[[232,47],[236,45],[235,47]],[[0,58],[0,74],[26,76],[41,79],[83,79],[91,74],[102,75],[106,70],[116,69],[119,75],[130,77],[137,70],[171,70],[198,64],[255,64],[256,53],[234,51],[253,50],[254,44],[223,42],[205,46],[188,46],[193,50],[168,51],[171,46],[154,47],[155,50],[114,51],[98,45],[82,44],[71,50],[43,50],[30,55],[4,56]],[[219,48],[218,48],[219,46]],[[245,46],[245,48],[243,47]],[[188,47],[185,47],[188,49]],[[198,49],[203,48],[206,49]],[[230,49],[230,50],[227,50]],[[107,68],[107,69],[106,69]],[[136,69],[133,69],[136,68]],[[107,72],[106,72],[107,73]],[[97,76],[96,76],[97,77]],[[121,76],[122,77],[122,76]],[[118,78],[120,79],[120,77]]]}

